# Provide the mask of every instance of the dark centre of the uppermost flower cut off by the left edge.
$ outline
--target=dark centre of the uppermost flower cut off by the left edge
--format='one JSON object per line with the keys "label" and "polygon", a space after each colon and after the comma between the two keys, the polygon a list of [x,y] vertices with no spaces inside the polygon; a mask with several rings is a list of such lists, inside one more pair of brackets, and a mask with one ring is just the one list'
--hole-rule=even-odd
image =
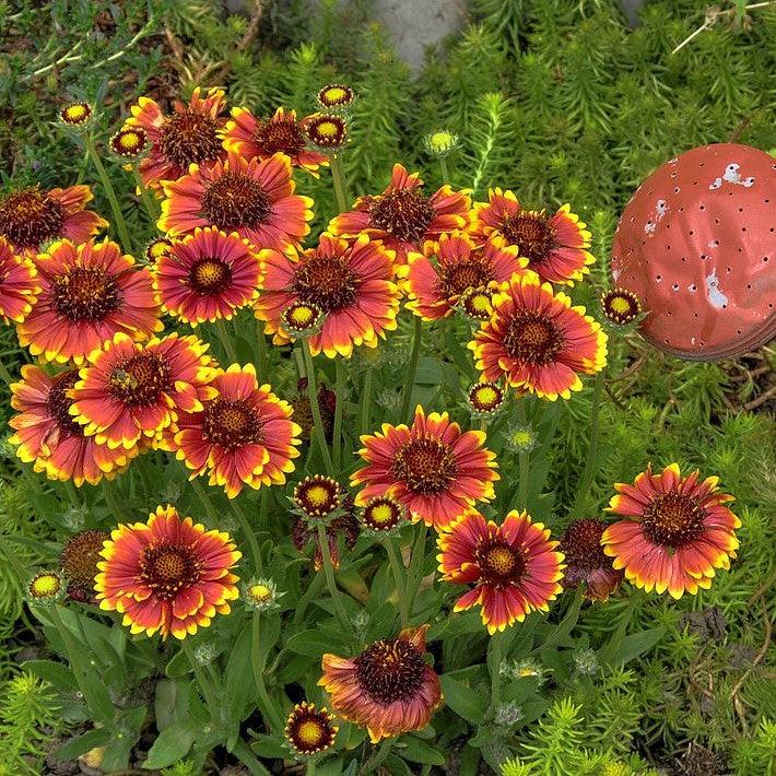
{"label": "dark centre of the uppermost flower cut off by the left edge", "polygon": [[14,191],[0,199],[0,235],[19,248],[37,249],[62,234],[64,208],[39,186]]}

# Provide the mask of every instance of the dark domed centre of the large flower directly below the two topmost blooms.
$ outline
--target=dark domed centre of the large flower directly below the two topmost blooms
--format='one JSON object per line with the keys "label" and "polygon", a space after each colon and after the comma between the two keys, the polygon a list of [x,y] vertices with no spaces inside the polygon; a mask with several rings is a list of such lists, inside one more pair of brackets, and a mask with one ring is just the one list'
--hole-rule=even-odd
{"label": "dark domed centre of the large flower directly below the two topmost blooms", "polygon": [[220,230],[257,228],[267,223],[272,202],[264,187],[243,173],[224,173],[202,195],[204,215]]}

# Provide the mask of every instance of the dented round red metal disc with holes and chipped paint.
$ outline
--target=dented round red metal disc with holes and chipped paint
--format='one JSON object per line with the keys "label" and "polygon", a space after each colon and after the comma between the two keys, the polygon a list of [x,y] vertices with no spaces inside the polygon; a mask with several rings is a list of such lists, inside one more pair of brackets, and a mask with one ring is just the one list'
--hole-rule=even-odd
{"label": "dented round red metal disc with holes and chipped paint", "polygon": [[636,190],[612,245],[614,284],[647,311],[656,348],[713,361],[776,336],[776,158],[719,143],[683,153]]}

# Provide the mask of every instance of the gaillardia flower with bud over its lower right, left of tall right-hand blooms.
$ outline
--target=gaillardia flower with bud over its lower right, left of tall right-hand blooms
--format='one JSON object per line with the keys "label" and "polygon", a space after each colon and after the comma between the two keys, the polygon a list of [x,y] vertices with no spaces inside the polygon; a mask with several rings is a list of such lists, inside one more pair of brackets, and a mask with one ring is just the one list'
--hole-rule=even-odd
{"label": "gaillardia flower with bud over its lower right, left of tall right-hand blooms", "polygon": [[408,308],[423,320],[435,320],[451,315],[462,294],[495,291],[527,263],[517,258],[515,246],[497,248],[491,242],[475,246],[469,235],[454,232],[442,235],[438,243],[428,240],[423,255],[410,254],[399,275],[410,297]]}

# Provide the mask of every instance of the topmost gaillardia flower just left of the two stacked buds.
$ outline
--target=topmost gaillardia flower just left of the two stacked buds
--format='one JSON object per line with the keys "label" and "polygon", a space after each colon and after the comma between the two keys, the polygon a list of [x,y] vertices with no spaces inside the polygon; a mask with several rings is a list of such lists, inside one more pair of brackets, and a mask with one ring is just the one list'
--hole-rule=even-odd
{"label": "topmost gaillardia flower just left of the two stacked buds", "polygon": [[326,154],[307,148],[308,119],[296,120],[296,111],[278,108],[271,119],[256,118],[247,108],[232,108],[232,119],[224,129],[224,148],[244,156],[268,158],[285,154],[292,167],[301,167],[318,176],[318,167],[329,163]]}

